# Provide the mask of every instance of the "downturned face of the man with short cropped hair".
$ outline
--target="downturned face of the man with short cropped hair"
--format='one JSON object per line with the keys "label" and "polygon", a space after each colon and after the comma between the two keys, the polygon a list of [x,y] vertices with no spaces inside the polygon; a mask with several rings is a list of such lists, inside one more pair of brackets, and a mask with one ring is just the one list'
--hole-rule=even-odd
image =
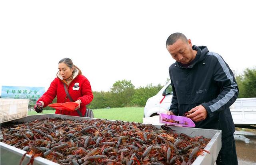
{"label": "downturned face of the man with short cropped hair", "polygon": [[174,60],[182,64],[188,64],[196,57],[190,39],[188,42],[178,39],[174,44],[168,45],[167,50]]}

